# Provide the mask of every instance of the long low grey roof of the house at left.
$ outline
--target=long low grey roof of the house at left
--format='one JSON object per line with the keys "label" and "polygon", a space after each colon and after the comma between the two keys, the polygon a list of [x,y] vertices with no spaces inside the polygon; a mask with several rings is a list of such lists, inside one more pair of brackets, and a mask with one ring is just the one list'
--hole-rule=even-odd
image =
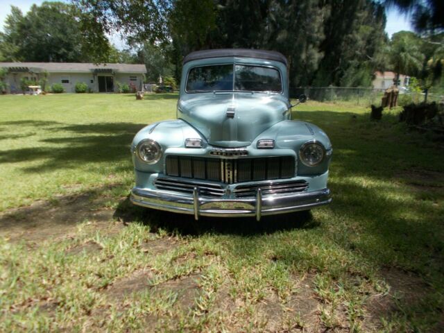
{"label": "long low grey roof of the house at left", "polygon": [[146,73],[145,65],[99,64],[81,62],[0,62],[0,67],[11,71],[48,71],[50,73],[91,73],[114,71],[118,73]]}

